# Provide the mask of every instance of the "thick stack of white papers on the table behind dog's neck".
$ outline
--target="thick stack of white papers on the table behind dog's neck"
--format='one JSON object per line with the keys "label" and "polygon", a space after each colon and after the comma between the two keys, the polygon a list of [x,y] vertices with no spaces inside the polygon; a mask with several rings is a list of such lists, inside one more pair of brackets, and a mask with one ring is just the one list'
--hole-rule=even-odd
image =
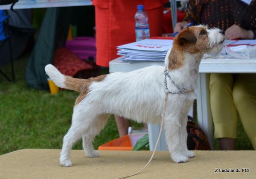
{"label": "thick stack of white papers on the table behind dog's neck", "polygon": [[164,61],[172,43],[173,40],[145,39],[117,46],[117,55],[124,56],[125,61]]}

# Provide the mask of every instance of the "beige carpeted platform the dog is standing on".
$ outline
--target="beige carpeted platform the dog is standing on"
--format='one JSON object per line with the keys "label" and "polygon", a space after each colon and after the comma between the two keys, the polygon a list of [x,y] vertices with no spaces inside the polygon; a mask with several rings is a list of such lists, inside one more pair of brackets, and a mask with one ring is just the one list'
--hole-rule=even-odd
{"label": "beige carpeted platform the dog is standing on", "polygon": [[[72,167],[58,164],[59,153],[60,150],[24,149],[1,155],[0,178],[114,179],[139,170],[152,152],[99,151],[101,156],[87,158],[82,150],[72,150]],[[225,169],[240,172],[220,173]],[[256,151],[195,151],[195,158],[181,164],[172,162],[167,151],[159,151],[142,173],[131,178],[256,178]]]}

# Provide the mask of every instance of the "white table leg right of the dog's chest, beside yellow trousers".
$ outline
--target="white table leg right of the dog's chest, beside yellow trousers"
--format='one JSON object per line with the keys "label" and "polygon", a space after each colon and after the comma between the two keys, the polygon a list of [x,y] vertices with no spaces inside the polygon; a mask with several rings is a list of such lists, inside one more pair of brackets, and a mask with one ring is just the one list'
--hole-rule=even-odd
{"label": "white table leg right of the dog's chest, beside yellow trousers", "polygon": [[199,73],[197,85],[198,125],[207,135],[210,146],[213,150],[212,114],[209,103],[209,80],[207,81],[207,74]]}

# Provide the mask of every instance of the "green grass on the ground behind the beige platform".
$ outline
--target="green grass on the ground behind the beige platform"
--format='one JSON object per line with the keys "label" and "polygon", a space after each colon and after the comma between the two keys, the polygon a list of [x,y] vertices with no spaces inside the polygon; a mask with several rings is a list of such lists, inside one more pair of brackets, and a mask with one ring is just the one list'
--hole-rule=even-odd
{"label": "green grass on the ground behind the beige platform", "polygon": [[[15,83],[0,75],[0,154],[24,148],[60,149],[70,127],[77,92],[63,90],[57,95],[30,88],[25,82],[29,55],[15,61]],[[0,66],[10,76],[10,65]],[[106,71],[106,70],[105,70]],[[142,124],[132,122],[134,127]],[[94,141],[94,148],[118,138],[116,122],[111,116]],[[81,141],[73,149],[82,149]],[[219,149],[215,140],[215,149]],[[253,150],[239,123],[237,150]]]}

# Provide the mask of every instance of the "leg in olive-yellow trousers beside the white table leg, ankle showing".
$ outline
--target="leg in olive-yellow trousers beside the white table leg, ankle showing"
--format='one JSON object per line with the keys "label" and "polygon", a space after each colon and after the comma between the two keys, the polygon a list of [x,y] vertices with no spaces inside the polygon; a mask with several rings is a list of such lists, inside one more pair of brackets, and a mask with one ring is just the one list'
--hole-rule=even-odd
{"label": "leg in olive-yellow trousers beside the white table leg, ankle showing", "polygon": [[210,104],[214,123],[214,136],[221,150],[234,150],[237,137],[238,113],[233,103],[233,75],[210,75]]}

